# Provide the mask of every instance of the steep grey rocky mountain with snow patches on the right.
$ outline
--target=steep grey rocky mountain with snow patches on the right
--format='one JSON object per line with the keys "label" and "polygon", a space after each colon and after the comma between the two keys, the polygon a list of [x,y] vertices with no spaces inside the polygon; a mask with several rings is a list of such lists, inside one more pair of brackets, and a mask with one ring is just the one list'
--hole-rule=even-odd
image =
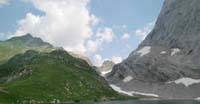
{"label": "steep grey rocky mountain with snow patches on the right", "polygon": [[107,80],[131,95],[200,96],[200,0],[165,0],[154,29]]}

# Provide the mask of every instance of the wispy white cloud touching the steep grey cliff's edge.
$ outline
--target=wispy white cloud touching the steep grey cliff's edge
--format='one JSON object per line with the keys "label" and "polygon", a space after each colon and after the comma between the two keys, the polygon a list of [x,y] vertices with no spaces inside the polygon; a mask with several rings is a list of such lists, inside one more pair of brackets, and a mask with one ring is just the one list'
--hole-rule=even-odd
{"label": "wispy white cloud touching the steep grey cliff's edge", "polygon": [[146,26],[144,26],[141,29],[137,29],[135,31],[135,35],[139,36],[141,38],[141,40],[144,40],[145,37],[151,32],[151,30],[154,27],[155,22],[150,22],[148,23]]}

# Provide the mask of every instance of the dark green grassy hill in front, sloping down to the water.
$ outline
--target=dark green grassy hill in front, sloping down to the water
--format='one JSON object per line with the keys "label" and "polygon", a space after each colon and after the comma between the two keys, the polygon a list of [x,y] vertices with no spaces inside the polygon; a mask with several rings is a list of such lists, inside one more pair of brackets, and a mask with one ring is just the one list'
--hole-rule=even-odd
{"label": "dark green grassy hill in front, sloping down to the water", "polygon": [[82,59],[66,51],[29,50],[0,66],[0,102],[79,102],[125,99]]}

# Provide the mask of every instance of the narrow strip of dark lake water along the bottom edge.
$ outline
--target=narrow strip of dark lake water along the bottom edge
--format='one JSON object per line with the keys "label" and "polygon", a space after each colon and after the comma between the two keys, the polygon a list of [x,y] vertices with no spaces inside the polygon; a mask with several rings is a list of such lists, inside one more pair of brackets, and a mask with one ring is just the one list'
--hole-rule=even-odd
{"label": "narrow strip of dark lake water along the bottom edge", "polygon": [[[86,104],[86,103],[81,103]],[[200,104],[200,101],[194,100],[140,100],[140,101],[111,101],[111,102],[98,102],[87,104]]]}

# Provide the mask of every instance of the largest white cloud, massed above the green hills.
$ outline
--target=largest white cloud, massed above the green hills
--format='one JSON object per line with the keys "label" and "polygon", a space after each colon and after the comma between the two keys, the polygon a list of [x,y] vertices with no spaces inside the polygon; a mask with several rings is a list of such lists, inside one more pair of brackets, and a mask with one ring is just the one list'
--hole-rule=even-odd
{"label": "largest white cloud, massed above the green hills", "polygon": [[[31,33],[68,51],[78,53],[87,51],[84,44],[93,34],[92,27],[99,22],[87,7],[89,0],[26,1],[33,3],[45,15],[27,13],[26,17],[19,21],[19,28],[14,36]],[[110,30],[105,32],[109,33]],[[109,36],[104,38],[110,40]]]}

